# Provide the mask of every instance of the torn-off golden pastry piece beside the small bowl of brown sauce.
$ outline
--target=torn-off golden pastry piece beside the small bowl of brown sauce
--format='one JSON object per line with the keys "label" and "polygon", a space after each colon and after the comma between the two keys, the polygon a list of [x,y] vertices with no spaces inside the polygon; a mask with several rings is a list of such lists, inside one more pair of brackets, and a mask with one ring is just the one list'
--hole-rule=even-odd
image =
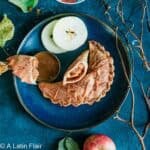
{"label": "torn-off golden pastry piece beside the small bowl of brown sauce", "polygon": [[39,76],[38,60],[34,56],[14,55],[7,58],[8,67],[22,82],[36,84]]}

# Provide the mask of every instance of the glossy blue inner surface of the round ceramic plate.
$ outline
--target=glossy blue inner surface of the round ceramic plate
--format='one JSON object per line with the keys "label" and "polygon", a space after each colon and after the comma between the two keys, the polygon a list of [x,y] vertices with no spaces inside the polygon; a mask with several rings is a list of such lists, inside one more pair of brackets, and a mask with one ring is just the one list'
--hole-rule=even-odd
{"label": "glossy blue inner surface of the round ceramic plate", "polygon": [[[70,15],[80,17],[87,25],[89,32],[88,40],[99,41],[107,50],[109,50],[114,58],[115,79],[111,90],[107,93],[106,97],[92,106],[83,105],[77,108],[72,106],[63,108],[59,105],[54,105],[49,100],[45,99],[37,86],[22,83],[20,79],[16,77],[14,77],[14,81],[19,101],[34,119],[48,127],[79,131],[98,125],[110,117],[119,108],[128,93],[128,83],[125,79],[121,60],[115,46],[116,40],[114,31],[102,21],[87,15],[61,14],[48,18],[34,27],[21,43],[18,54],[34,55],[41,50],[45,50],[40,38],[43,27],[54,19]],[[76,51],[57,55],[62,66],[57,80],[62,79],[63,73],[68,65],[71,64],[83,50],[87,49],[87,47],[88,43]],[[131,77],[131,68],[127,51],[120,40],[119,48],[125,62],[127,73],[129,77]]]}

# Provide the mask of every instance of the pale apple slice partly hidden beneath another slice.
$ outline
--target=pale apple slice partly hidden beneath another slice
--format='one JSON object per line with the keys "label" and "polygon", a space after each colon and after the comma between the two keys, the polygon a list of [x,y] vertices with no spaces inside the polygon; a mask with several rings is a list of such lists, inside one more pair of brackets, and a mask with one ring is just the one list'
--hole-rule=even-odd
{"label": "pale apple slice partly hidden beneath another slice", "polygon": [[53,33],[53,28],[56,23],[57,23],[57,20],[54,20],[44,27],[42,34],[41,34],[41,40],[42,40],[44,47],[49,52],[58,54],[58,53],[64,53],[66,51],[58,47],[53,41],[52,33]]}

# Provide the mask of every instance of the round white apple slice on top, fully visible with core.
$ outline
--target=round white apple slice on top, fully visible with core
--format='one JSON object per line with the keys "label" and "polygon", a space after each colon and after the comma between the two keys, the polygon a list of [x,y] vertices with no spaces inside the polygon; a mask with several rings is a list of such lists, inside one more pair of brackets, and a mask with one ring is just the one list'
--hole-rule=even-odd
{"label": "round white apple slice on top, fully visible with core", "polygon": [[88,31],[85,23],[78,17],[69,16],[58,20],[53,29],[53,40],[62,49],[72,51],[87,40]]}

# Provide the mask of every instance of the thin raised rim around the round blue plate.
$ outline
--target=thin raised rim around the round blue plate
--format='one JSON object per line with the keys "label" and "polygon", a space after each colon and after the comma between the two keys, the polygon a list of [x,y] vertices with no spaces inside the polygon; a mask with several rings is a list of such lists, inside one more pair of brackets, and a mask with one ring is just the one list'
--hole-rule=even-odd
{"label": "thin raised rim around the round blue plate", "polygon": [[[99,19],[98,17],[94,17],[92,15],[88,15],[88,14],[83,14],[83,13],[59,13],[59,14],[56,14],[54,16],[51,16],[51,17],[48,17],[44,20],[42,20],[41,22],[39,22],[37,25],[35,25],[33,28],[31,28],[31,30],[25,35],[25,37],[23,38],[23,40],[21,41],[20,45],[19,45],[19,48],[16,52],[16,54],[19,54],[19,52],[21,51],[21,48],[22,46],[24,45],[26,39],[29,37],[29,35],[40,25],[46,23],[47,21],[50,21],[50,20],[53,20],[57,17],[63,17],[63,16],[68,16],[68,15],[73,15],[73,16],[86,16],[86,17],[89,17],[91,19],[94,19],[96,20],[97,22],[99,22],[100,24],[103,24],[104,26],[106,26],[110,31],[112,31],[113,33],[115,33],[115,31],[108,25],[106,24],[105,22],[103,22],[101,19]],[[129,65],[129,80],[130,80],[130,83],[132,81],[132,63],[130,61],[130,57],[129,57],[129,54],[128,54],[128,50],[127,50],[127,45],[122,42],[121,38],[119,35],[117,35],[117,38],[118,40],[122,43],[122,46],[124,48],[124,51],[126,53],[126,56],[127,56],[127,61],[128,61],[128,65]],[[82,128],[76,128],[76,129],[66,129],[66,128],[59,128],[59,127],[55,127],[55,126],[52,126],[52,125],[49,125],[47,123],[45,123],[44,121],[40,120],[36,115],[34,115],[28,108],[27,106],[24,104],[22,98],[21,98],[21,95],[19,93],[19,90],[18,90],[18,86],[17,86],[17,77],[13,76],[13,82],[14,82],[14,87],[15,87],[15,90],[16,90],[16,94],[17,94],[17,97],[18,97],[18,100],[20,102],[20,104],[22,105],[22,107],[25,109],[25,111],[34,119],[36,120],[37,122],[41,123],[42,125],[48,127],[48,128],[51,128],[51,129],[55,129],[55,130],[59,130],[59,131],[64,131],[64,132],[81,132],[81,131],[85,131],[85,130],[88,130],[88,129],[91,129],[91,128],[94,128],[94,127],[97,127],[98,125],[100,125],[101,123],[103,123],[104,121],[106,121],[107,119],[109,119],[111,116],[113,116],[113,114],[115,114],[118,109],[121,107],[121,105],[124,103],[125,99],[127,98],[128,94],[129,94],[129,91],[130,91],[130,87],[129,87],[129,84],[128,84],[128,88],[126,89],[126,91],[124,92],[124,95],[123,95],[123,98],[120,102],[120,104],[118,106],[116,106],[114,108],[114,111],[111,111],[104,119],[100,120],[100,121],[97,121],[96,123],[92,124],[92,125],[88,125],[87,127],[82,127]]]}

